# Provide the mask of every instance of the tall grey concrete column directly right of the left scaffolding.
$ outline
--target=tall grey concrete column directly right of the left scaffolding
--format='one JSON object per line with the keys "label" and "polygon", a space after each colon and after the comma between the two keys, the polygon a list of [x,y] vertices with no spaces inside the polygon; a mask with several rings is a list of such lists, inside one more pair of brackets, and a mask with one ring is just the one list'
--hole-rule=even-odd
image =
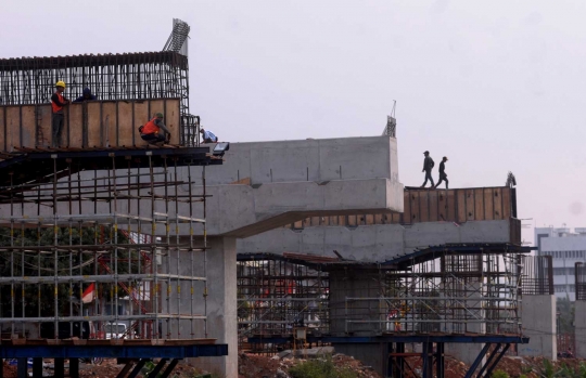
{"label": "tall grey concrete column directly right of the left scaffolding", "polygon": [[[207,337],[227,343],[228,356],[192,359],[189,363],[221,378],[238,377],[235,238],[209,237],[207,245]],[[198,337],[202,331],[198,330]]]}

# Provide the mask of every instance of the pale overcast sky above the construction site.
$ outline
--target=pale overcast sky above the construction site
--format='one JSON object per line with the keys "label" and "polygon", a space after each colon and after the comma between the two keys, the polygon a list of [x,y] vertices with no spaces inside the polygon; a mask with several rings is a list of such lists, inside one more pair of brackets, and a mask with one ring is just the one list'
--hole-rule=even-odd
{"label": "pale overcast sky above the construction site", "polygon": [[378,135],[396,100],[405,185],[429,149],[450,187],[510,170],[527,223],[586,226],[585,1],[1,2],[0,57],[158,51],[181,18],[221,140]]}

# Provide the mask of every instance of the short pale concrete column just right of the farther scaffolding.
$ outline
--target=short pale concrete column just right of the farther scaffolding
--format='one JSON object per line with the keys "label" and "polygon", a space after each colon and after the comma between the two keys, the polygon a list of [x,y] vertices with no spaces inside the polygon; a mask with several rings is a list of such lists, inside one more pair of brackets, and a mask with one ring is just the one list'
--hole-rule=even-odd
{"label": "short pale concrete column just right of the farther scaffolding", "polygon": [[[577,307],[576,314],[581,314],[577,312]],[[578,340],[577,322],[576,317],[576,340]],[[523,296],[521,323],[523,325],[523,335],[530,338],[530,342],[519,344],[519,355],[544,356],[551,361],[558,360],[556,296]]]}

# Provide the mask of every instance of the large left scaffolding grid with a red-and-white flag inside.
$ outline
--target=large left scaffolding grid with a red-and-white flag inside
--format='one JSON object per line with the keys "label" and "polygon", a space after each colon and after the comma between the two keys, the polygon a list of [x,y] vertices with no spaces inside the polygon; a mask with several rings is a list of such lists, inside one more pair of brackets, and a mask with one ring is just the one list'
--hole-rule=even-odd
{"label": "large left scaffolding grid with a red-and-white flag inside", "polygon": [[190,169],[208,164],[194,159],[200,149],[4,160],[2,338],[207,337],[205,167],[198,186]]}

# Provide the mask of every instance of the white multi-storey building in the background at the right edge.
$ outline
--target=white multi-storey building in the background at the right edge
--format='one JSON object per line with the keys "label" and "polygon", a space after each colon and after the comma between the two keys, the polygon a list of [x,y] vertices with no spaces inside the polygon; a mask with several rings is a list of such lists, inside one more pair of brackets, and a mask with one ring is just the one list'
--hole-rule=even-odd
{"label": "white multi-storey building in the background at the right edge", "polygon": [[574,265],[586,262],[586,227],[535,227],[534,243],[539,256],[552,257],[556,297],[576,300]]}

